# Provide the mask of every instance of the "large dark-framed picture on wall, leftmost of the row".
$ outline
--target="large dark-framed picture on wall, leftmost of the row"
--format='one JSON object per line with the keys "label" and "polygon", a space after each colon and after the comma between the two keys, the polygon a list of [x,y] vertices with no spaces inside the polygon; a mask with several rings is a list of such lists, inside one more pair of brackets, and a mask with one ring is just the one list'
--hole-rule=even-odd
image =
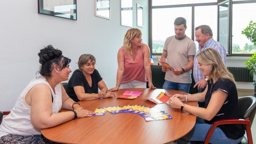
{"label": "large dark-framed picture on wall, leftmost of the row", "polygon": [[38,0],[38,14],[77,20],[76,0]]}

